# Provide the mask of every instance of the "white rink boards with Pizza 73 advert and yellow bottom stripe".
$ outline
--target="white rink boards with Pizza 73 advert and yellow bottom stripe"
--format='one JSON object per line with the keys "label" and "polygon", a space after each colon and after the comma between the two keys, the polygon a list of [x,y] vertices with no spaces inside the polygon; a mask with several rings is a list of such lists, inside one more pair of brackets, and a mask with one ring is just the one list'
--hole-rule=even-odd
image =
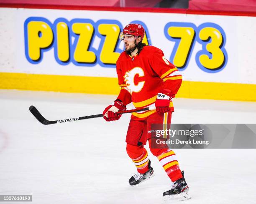
{"label": "white rink boards with Pizza 73 advert and yellow bottom stripe", "polygon": [[182,72],[178,97],[256,101],[254,16],[0,8],[0,88],[118,94],[130,23]]}

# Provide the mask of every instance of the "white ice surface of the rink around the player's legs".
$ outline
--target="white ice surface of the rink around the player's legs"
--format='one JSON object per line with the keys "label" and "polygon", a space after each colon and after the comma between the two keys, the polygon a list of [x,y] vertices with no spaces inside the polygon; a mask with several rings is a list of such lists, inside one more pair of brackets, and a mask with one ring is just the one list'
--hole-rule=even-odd
{"label": "white ice surface of the rink around the player's legs", "polygon": [[[28,110],[34,105],[46,119],[57,120],[101,114],[113,100],[113,95],[0,90],[0,195],[32,195],[34,204],[164,203],[162,193],[171,183],[151,153],[156,176],[128,184],[136,173],[125,149],[130,114],[115,122],[43,125]],[[177,98],[174,108],[173,123],[256,123],[255,102]],[[181,203],[256,203],[256,149],[174,151],[192,196]]]}

